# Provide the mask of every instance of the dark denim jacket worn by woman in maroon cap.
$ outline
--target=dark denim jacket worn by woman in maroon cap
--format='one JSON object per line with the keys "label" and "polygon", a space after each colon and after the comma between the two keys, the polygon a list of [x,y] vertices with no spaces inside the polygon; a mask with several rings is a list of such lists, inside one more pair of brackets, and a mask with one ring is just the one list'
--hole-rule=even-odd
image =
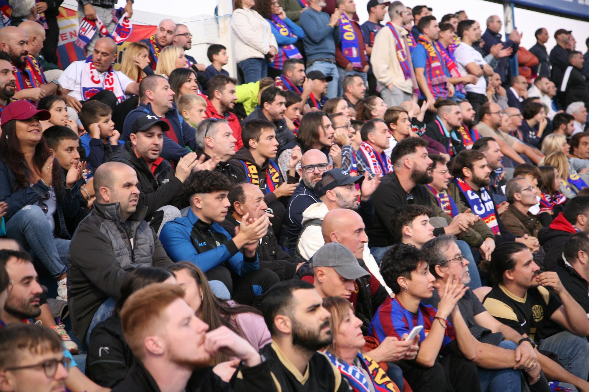
{"label": "dark denim jacket worn by woman in maroon cap", "polygon": [[[57,160],[54,164],[59,165]],[[24,166],[25,173],[27,173],[28,169],[24,161],[21,161],[21,165]],[[61,202],[57,203],[57,210],[55,211],[57,217],[55,217],[54,236],[71,239],[65,227],[65,220],[75,217],[78,214],[78,209],[80,208],[80,187],[78,183],[75,183],[74,186],[68,189],[65,186],[64,180],[62,190]],[[37,203],[47,192],[49,192],[49,187],[44,185],[41,180],[26,188],[15,188],[14,173],[12,173],[12,170],[9,169],[4,160],[0,160],[0,202],[8,203],[8,210],[4,216],[7,223],[22,207]]]}

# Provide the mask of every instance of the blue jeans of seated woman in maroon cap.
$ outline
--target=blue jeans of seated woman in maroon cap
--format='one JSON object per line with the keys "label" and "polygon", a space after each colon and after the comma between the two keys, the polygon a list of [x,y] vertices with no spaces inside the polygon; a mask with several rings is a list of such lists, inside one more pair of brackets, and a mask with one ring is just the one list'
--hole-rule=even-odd
{"label": "blue jeans of seated woman in maroon cap", "polygon": [[[55,212],[57,213],[57,212]],[[70,240],[54,238],[47,216],[37,205],[28,205],[6,223],[6,237],[18,241],[41,262],[52,277],[67,270]]]}

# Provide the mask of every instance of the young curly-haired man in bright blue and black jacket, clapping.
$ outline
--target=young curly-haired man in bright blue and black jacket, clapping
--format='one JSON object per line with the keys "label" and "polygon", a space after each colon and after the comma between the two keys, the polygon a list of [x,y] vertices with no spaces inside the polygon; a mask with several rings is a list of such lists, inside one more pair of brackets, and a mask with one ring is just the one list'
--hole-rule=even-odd
{"label": "young curly-haired man in bright blue and black jacket, clapping", "polygon": [[219,225],[231,205],[227,199],[230,189],[231,183],[221,173],[192,173],[184,185],[190,209],[186,216],[167,222],[160,239],[174,262],[195,264],[209,280],[223,282],[237,302],[251,305],[259,303],[260,294],[280,279],[271,270],[260,269],[256,254],[260,238],[267,233],[266,215],[255,221],[244,216],[233,238]]}

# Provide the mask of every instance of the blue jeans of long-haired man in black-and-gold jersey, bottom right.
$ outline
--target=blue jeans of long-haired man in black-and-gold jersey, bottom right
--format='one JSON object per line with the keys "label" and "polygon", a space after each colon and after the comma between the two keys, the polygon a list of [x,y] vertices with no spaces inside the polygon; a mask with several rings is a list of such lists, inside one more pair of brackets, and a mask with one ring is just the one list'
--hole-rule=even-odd
{"label": "blue jeans of long-haired man in black-and-gold jersey, bottom right", "polygon": [[[542,339],[538,349],[556,354],[558,362],[569,373],[573,373],[582,380],[587,380],[589,374],[589,344],[587,344],[587,339],[584,337],[569,331],[562,331]],[[573,387],[567,383],[560,383],[558,386],[564,388]]]}

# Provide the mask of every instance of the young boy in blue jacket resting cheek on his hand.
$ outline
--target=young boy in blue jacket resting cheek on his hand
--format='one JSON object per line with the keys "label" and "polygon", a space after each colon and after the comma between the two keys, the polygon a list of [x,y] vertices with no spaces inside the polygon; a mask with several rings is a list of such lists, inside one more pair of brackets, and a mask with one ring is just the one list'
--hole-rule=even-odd
{"label": "young boy in blue jacket resting cheek on his hand", "polygon": [[97,100],[89,100],[82,105],[80,121],[86,133],[80,141],[86,150],[91,169],[96,170],[102,163],[107,162],[114,150],[123,142],[118,139],[121,133],[114,129],[112,109]]}

